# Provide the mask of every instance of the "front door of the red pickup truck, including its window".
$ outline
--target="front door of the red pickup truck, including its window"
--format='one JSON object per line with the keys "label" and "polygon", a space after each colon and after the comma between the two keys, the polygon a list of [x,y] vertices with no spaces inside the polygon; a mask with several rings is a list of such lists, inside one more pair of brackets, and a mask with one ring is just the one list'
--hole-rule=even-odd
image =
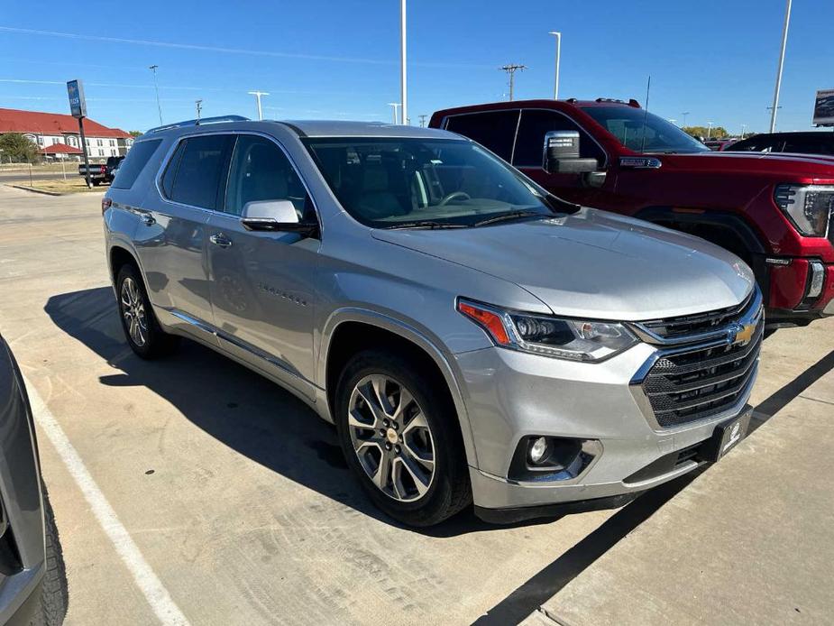
{"label": "front door of the red pickup truck, including its window", "polygon": [[547,173],[543,167],[545,133],[578,131],[580,157],[596,159],[600,170],[608,167],[608,156],[589,133],[570,117],[550,109],[523,109],[518,122],[518,137],[513,165],[542,187],[577,204],[605,207],[614,189],[614,177],[606,177],[601,188],[591,187],[585,174]]}

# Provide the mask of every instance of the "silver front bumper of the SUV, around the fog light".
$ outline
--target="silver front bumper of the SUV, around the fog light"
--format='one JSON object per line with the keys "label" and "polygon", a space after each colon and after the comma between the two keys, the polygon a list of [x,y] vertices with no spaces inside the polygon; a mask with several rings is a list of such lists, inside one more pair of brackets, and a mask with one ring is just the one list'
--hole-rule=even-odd
{"label": "silver front bumper of the SUV, around the fog light", "polygon": [[[661,428],[635,386],[656,354],[648,344],[598,364],[501,348],[457,354],[477,453],[478,466],[470,467],[475,511],[485,520],[520,520],[621,506],[701,465],[690,451],[745,409],[756,372],[726,410]],[[595,452],[574,477],[514,480],[512,458],[530,436],[589,440]]]}

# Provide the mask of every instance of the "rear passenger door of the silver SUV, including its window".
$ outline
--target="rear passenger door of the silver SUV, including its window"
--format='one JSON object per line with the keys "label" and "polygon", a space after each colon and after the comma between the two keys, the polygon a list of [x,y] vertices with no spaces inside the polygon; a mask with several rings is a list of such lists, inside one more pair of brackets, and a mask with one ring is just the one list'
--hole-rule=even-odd
{"label": "rear passenger door of the silver SUV, including its window", "polygon": [[221,201],[232,142],[216,133],[180,140],[160,177],[161,196],[151,192],[134,235],[151,301],[209,342],[206,224]]}

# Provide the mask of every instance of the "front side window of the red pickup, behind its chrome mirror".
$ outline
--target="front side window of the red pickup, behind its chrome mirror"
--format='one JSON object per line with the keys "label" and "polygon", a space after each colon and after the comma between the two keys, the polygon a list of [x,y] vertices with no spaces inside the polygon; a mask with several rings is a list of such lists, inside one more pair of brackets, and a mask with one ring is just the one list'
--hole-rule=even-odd
{"label": "front side window of the red pickup, behind its chrome mirror", "polygon": [[591,135],[572,119],[555,111],[529,109],[521,112],[513,165],[541,167],[545,133],[550,131],[579,131],[579,155],[582,159],[596,159],[600,167],[606,162],[605,152],[602,152],[600,146],[591,139]]}

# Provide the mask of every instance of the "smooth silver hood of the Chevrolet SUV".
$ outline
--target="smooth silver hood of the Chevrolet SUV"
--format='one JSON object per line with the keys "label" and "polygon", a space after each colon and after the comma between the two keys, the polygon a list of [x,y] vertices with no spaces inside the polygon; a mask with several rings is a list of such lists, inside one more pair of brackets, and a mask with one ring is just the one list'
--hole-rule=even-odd
{"label": "smooth silver hood of the Chevrolet SUV", "polygon": [[[637,321],[731,307],[754,283],[744,262],[702,239],[584,207],[535,221],[372,236],[512,281],[572,317]],[[465,283],[460,295],[478,298]]]}

